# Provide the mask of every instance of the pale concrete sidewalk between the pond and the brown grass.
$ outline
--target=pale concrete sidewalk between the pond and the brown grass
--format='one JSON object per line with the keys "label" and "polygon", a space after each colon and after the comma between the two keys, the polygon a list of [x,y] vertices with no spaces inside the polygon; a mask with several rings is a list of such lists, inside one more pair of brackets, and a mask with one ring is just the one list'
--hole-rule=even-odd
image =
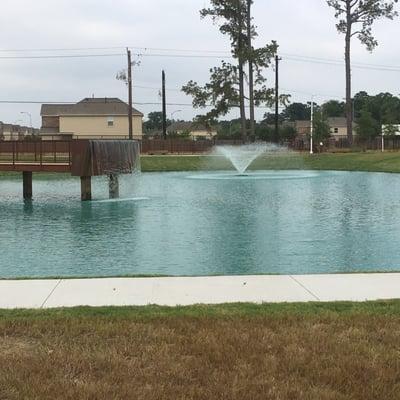
{"label": "pale concrete sidewalk between the pond and the brown grass", "polygon": [[0,281],[0,308],[400,299],[400,273]]}

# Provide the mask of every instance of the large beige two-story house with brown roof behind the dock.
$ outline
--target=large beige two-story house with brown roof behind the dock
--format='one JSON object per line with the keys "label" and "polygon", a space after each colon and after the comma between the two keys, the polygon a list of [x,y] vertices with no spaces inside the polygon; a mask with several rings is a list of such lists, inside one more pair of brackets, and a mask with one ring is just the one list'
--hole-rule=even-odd
{"label": "large beige two-story house with brown roof behind the dock", "polygon": [[[76,104],[43,104],[43,140],[128,139],[129,105],[117,98],[86,98]],[[142,140],[143,114],[132,110],[133,138]]]}

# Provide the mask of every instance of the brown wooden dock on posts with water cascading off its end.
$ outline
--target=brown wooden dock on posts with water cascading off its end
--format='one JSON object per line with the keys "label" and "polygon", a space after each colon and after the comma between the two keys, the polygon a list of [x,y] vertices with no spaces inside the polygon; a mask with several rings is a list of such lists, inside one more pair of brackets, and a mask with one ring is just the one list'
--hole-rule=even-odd
{"label": "brown wooden dock on posts with water cascading off its end", "polygon": [[92,199],[92,176],[108,175],[110,197],[116,197],[117,174],[133,172],[138,157],[139,143],[127,140],[0,141],[0,171],[22,173],[26,200],[32,199],[33,173],[79,176],[82,201]]}

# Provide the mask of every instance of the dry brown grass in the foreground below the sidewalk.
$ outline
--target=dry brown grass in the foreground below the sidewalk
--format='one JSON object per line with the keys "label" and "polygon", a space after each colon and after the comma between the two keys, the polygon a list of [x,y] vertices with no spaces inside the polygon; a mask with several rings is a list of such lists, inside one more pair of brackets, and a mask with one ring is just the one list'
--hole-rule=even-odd
{"label": "dry brown grass in the foreground below the sidewalk", "polygon": [[0,399],[399,399],[398,303],[238,307],[3,312]]}

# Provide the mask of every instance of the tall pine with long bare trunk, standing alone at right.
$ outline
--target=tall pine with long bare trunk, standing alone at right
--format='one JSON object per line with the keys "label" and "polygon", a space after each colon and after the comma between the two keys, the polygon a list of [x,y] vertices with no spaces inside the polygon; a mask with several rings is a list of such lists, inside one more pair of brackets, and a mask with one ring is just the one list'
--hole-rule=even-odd
{"label": "tall pine with long bare trunk, standing alone at right", "polygon": [[352,143],[351,39],[357,36],[368,51],[373,51],[378,42],[372,35],[372,25],[379,18],[393,19],[397,15],[394,10],[397,0],[327,0],[327,3],[334,8],[335,17],[339,19],[337,30],[345,35],[347,136]]}

